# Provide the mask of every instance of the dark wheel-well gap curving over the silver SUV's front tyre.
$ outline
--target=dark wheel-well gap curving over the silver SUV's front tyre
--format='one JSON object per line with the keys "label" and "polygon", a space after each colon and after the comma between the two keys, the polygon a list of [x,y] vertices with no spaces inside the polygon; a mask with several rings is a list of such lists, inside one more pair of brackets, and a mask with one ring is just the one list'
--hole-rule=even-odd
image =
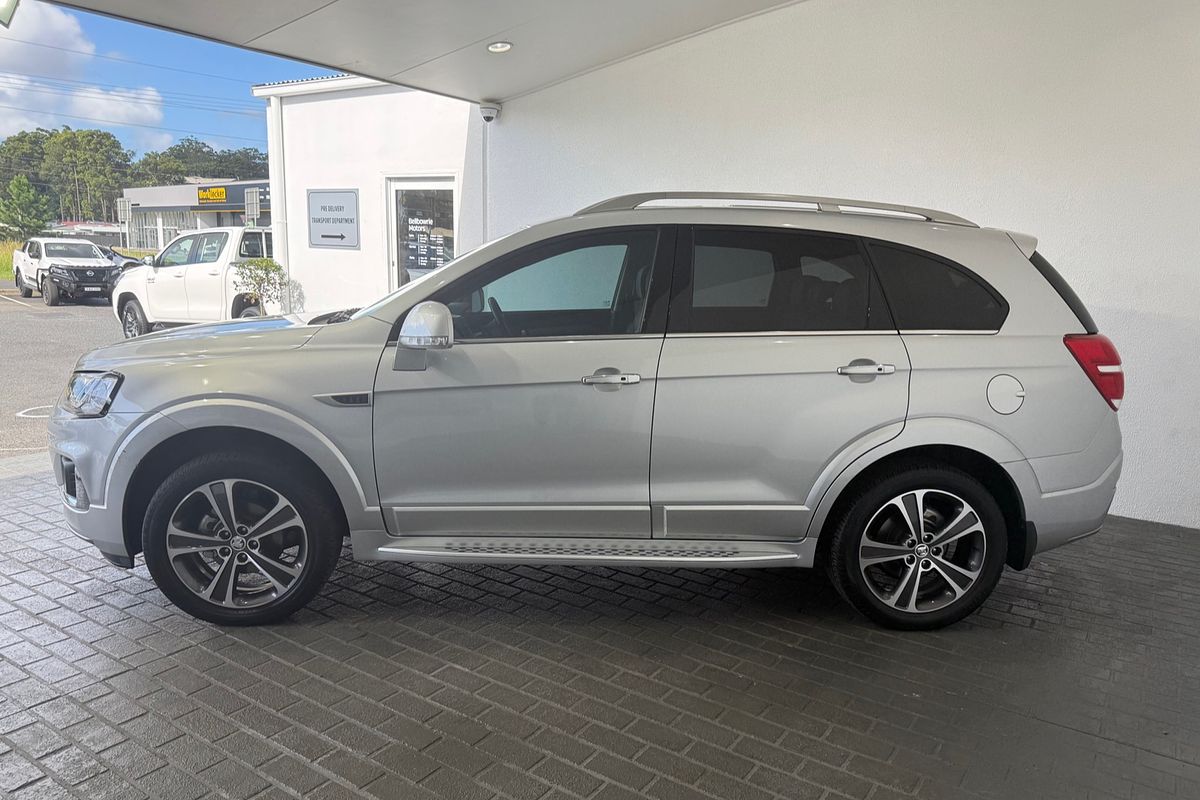
{"label": "dark wheel-well gap curving over the silver SUV's front tyre", "polygon": [[[142,523],[146,506],[162,477],[192,458],[222,450],[253,450],[283,459],[289,469],[299,468],[320,486],[335,513],[348,522],[343,498],[325,471],[302,450],[262,431],[238,426],[187,428],[157,443],[134,467],[121,501],[121,530],[131,557],[142,552]],[[348,533],[349,527],[343,533]]]}

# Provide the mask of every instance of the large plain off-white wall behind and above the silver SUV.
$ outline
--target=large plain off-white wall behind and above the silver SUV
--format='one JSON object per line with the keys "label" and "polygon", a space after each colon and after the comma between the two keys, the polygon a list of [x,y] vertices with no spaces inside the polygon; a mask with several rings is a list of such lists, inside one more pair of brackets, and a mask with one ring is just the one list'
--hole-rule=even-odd
{"label": "large plain off-white wall behind and above the silver SUV", "polygon": [[506,103],[488,233],[642,190],[1032,233],[1127,365],[1114,511],[1200,527],[1198,30],[1195,0],[809,0]]}

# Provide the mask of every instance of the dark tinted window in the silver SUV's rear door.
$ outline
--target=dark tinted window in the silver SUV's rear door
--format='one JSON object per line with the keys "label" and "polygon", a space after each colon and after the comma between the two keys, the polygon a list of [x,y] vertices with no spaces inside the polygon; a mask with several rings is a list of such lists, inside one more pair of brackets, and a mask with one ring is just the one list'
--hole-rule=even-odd
{"label": "dark tinted window in the silver SUV's rear door", "polygon": [[871,296],[871,270],[853,239],[738,228],[694,231],[685,330],[887,327],[887,312]]}

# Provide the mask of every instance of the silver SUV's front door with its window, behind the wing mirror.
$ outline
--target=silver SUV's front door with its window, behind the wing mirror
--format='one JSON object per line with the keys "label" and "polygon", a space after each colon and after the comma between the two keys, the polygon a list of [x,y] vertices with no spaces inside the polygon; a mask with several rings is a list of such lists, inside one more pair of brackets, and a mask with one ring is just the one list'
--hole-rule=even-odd
{"label": "silver SUV's front door with its window, behind the wing mirror", "polygon": [[569,235],[430,297],[454,314],[454,347],[401,351],[401,365],[390,345],[376,378],[376,473],[391,533],[650,535],[673,236],[656,227]]}

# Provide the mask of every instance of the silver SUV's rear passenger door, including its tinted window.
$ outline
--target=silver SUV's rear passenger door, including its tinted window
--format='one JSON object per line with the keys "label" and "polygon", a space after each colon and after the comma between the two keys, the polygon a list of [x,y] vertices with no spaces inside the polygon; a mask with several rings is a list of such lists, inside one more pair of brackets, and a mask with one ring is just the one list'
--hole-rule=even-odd
{"label": "silver SUV's rear passenger door, including its tinted window", "polygon": [[796,540],[856,441],[900,433],[908,356],[859,241],[680,231],[654,407],[655,536]]}

